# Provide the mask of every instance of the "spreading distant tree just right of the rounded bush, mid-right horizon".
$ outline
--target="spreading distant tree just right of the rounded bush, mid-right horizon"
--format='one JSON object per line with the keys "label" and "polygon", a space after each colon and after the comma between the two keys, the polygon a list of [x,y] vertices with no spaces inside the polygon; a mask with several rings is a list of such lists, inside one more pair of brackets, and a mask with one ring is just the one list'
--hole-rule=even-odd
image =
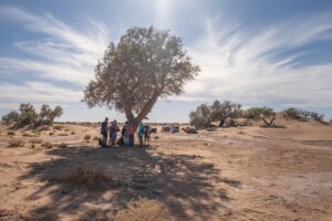
{"label": "spreading distant tree just right of the rounded bush, mid-right horizon", "polygon": [[219,120],[219,127],[222,127],[227,118],[236,118],[242,114],[240,104],[231,101],[219,102],[216,99],[211,105],[211,120]]}

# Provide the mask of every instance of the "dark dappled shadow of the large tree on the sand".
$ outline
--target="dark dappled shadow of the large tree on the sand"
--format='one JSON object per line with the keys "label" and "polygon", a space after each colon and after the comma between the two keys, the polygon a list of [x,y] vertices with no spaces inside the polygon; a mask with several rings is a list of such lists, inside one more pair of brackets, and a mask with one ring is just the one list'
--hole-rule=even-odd
{"label": "dark dappled shadow of the large tree on the sand", "polygon": [[[35,203],[25,220],[58,220],[63,215],[106,220],[107,212],[116,212],[139,197],[164,202],[176,220],[209,220],[211,215],[230,211],[227,202],[231,199],[218,185],[241,187],[237,180],[222,178],[220,169],[195,155],[90,147],[52,149],[48,155],[51,160],[32,164],[29,172],[20,177],[20,180],[44,183],[25,199]],[[102,166],[111,179],[92,187],[63,181],[71,168],[84,164]],[[48,196],[50,201],[41,206],[38,201],[42,196]]]}

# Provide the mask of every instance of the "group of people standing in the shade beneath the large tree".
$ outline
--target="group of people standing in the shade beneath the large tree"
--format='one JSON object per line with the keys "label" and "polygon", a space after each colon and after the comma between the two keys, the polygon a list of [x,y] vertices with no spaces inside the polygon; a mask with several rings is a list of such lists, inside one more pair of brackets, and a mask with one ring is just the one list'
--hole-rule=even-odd
{"label": "group of people standing in the shade beneath the large tree", "polygon": [[[108,118],[106,117],[105,120],[102,123],[101,134],[103,136],[102,147],[115,147],[115,146],[125,146],[125,147],[134,147],[135,141],[135,133],[137,129],[137,136],[139,140],[139,147],[143,145],[148,145],[149,137],[151,137],[151,127],[149,125],[143,125],[141,123],[136,128],[134,124],[126,122],[125,125],[120,129],[120,126],[114,119],[111,122],[108,126]],[[117,139],[117,133],[121,131],[121,137]],[[110,136],[108,143],[107,138]],[[144,140],[143,140],[144,139]]]}

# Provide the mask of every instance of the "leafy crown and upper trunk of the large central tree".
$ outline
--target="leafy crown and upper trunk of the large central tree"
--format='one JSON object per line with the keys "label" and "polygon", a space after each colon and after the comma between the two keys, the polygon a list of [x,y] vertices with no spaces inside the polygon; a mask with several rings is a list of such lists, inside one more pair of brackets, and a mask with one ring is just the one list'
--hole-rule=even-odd
{"label": "leafy crown and upper trunk of the large central tree", "polygon": [[137,125],[158,97],[179,95],[199,66],[169,31],[132,28],[117,44],[111,43],[95,67],[95,80],[84,91],[89,107],[107,106]]}

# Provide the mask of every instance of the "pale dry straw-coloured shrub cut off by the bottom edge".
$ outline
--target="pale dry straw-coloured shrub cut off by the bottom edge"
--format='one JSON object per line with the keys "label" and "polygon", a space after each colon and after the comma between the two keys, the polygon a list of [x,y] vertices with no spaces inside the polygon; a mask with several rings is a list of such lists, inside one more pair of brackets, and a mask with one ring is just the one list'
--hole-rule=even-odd
{"label": "pale dry straw-coloured shrub cut off by the bottom edge", "polygon": [[137,201],[127,203],[126,209],[120,210],[116,214],[107,214],[114,221],[167,221],[169,212],[164,203],[158,200],[139,198]]}

